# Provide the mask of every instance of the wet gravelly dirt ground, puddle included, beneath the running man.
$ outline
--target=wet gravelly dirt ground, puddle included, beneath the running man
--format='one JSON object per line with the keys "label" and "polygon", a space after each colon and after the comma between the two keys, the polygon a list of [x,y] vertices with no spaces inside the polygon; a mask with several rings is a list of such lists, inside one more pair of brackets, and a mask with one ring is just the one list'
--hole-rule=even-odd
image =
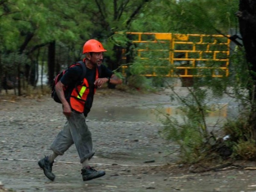
{"label": "wet gravelly dirt ground, puddle included, beneath the running man", "polygon": [[[186,88],[177,90],[187,94]],[[53,182],[37,165],[51,153],[48,147],[65,122],[60,104],[48,95],[40,99],[0,97],[0,182],[18,192],[256,191],[253,169],[233,166],[192,173],[186,165],[175,164],[178,146],[159,136],[162,125],[154,115],[161,104],[163,111],[179,117],[178,104],[169,100],[169,94],[170,90],[146,95],[97,92],[87,118],[96,150],[90,164],[106,175],[86,182],[74,146],[57,157]],[[209,124],[224,121],[234,111],[232,102],[230,98],[212,101],[222,107],[217,113],[209,112]]]}

